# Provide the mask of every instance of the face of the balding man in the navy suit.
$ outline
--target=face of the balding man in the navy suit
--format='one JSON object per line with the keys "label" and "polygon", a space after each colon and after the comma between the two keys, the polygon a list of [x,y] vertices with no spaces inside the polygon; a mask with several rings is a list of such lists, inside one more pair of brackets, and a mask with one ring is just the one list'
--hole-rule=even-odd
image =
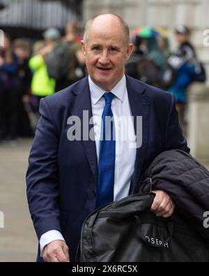
{"label": "face of the balding man in the navy suit", "polygon": [[132,44],[125,43],[125,35],[118,20],[96,19],[86,43],[82,41],[86,67],[93,82],[110,91],[123,78],[125,61],[132,53]]}

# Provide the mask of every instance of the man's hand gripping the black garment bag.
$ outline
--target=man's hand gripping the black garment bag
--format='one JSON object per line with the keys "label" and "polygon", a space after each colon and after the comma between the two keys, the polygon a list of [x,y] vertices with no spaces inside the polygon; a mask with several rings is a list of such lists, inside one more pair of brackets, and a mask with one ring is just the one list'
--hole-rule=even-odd
{"label": "man's hand gripping the black garment bag", "polygon": [[153,193],[156,194],[156,196],[150,211],[155,212],[157,217],[171,217],[175,209],[175,204],[170,196],[165,191],[153,191]]}

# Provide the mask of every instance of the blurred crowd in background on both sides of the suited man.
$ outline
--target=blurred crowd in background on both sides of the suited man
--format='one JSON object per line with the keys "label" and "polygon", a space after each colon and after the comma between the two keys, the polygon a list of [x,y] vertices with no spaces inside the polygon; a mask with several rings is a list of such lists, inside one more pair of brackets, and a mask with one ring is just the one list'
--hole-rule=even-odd
{"label": "blurred crowd in background on both sides of the suited man", "polygon": [[[187,27],[176,27],[178,47],[171,52],[167,31],[161,27],[134,29],[130,33],[134,52],[125,66],[133,78],[174,94],[184,131],[187,88],[194,81],[206,81],[206,70],[189,37]],[[81,40],[76,22],[67,25],[64,36],[59,29],[47,29],[41,41],[10,41],[9,34],[4,33],[4,45],[0,46],[0,143],[15,145],[18,137],[33,137],[40,99],[88,73]]]}

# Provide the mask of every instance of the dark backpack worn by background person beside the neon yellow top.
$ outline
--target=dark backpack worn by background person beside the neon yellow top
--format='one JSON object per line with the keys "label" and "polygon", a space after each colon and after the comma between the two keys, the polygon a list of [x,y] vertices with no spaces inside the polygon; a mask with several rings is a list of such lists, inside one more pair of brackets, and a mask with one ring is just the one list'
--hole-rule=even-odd
{"label": "dark backpack worn by background person beside the neon yellow top", "polygon": [[69,57],[70,48],[68,43],[58,43],[54,49],[49,52],[46,59],[49,78],[54,78],[54,80],[68,78]]}

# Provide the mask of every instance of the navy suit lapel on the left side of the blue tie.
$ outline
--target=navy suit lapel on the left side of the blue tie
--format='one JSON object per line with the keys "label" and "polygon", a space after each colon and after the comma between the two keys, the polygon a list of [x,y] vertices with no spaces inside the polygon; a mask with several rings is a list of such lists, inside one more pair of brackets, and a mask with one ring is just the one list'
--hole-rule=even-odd
{"label": "navy suit lapel on the left side of the blue tie", "polygon": [[[83,126],[88,124],[89,119],[92,117],[92,108],[91,108],[91,95],[88,85],[88,77],[84,78],[75,88],[72,89],[72,92],[75,94],[75,99],[72,101],[70,106],[70,112],[72,116],[77,116],[81,120],[82,132]],[[88,112],[88,118],[84,117],[83,112]],[[93,124],[88,124],[89,131],[93,128]],[[89,133],[88,131],[88,133]],[[83,137],[82,133],[82,143],[84,144],[84,150],[86,152],[86,157],[88,159],[89,165],[91,166],[91,170],[93,176],[97,180],[98,178],[98,160],[96,154],[95,141],[91,140],[88,136],[88,139]]]}

